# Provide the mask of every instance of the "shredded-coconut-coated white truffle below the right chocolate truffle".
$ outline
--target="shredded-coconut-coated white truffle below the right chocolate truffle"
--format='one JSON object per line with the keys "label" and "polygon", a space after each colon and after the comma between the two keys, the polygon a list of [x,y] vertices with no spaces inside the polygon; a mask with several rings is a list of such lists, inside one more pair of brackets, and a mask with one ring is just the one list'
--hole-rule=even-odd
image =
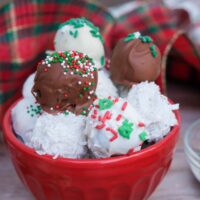
{"label": "shredded-coconut-coated white truffle below the right chocolate truffle", "polygon": [[127,100],[143,117],[151,134],[150,140],[163,138],[177,124],[173,110],[177,110],[179,105],[170,104],[154,82],[145,81],[134,85]]}

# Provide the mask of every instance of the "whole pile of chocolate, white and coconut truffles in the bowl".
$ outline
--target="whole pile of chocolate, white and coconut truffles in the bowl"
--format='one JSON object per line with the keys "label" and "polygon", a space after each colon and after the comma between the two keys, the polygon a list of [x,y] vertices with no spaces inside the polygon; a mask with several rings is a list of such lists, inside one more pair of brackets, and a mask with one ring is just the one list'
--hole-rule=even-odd
{"label": "whole pile of chocolate, white and coconut truffles in the bowl", "polygon": [[177,124],[154,83],[161,54],[139,32],[121,39],[105,69],[103,38],[84,18],[55,35],[55,51],[40,61],[12,109],[16,136],[54,159],[129,155],[163,139]]}

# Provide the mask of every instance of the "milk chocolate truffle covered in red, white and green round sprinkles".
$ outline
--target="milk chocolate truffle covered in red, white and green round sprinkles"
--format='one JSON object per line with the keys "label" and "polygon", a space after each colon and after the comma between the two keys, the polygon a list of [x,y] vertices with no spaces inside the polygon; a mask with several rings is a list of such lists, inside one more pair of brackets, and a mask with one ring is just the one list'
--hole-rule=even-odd
{"label": "milk chocolate truffle covered in red, white and green round sprinkles", "polygon": [[32,93],[48,113],[86,115],[95,98],[97,69],[87,55],[58,52],[37,66]]}

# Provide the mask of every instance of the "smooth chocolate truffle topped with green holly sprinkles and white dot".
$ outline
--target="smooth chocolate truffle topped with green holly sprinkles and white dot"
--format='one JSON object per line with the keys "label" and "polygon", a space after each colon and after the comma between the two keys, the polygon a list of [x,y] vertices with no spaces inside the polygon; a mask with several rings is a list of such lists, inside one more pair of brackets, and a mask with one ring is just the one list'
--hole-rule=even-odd
{"label": "smooth chocolate truffle topped with green holly sprinkles and white dot", "polygon": [[160,74],[161,54],[149,36],[139,32],[121,39],[111,58],[111,79],[131,87],[142,81],[155,81]]}

